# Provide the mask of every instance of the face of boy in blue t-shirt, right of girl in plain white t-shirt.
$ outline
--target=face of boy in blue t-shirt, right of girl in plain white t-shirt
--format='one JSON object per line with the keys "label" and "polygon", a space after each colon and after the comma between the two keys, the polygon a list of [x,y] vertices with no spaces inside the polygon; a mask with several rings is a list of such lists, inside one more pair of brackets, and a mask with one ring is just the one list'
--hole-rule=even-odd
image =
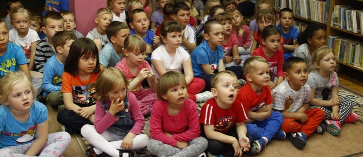
{"label": "face of boy in blue t-shirt, right of girl in plain white t-shirt", "polygon": [[205,40],[208,40],[212,46],[222,46],[224,38],[223,25],[214,24],[211,26],[211,31],[208,34],[204,34]]}

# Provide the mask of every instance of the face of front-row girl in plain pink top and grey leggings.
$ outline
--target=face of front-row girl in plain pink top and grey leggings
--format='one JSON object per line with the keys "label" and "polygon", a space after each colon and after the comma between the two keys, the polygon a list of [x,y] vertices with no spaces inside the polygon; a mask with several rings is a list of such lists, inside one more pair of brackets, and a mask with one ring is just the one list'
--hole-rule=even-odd
{"label": "face of front-row girl in plain pink top and grey leggings", "polygon": [[168,89],[163,98],[168,101],[169,105],[183,105],[185,100],[189,98],[187,86],[180,82],[179,85]]}

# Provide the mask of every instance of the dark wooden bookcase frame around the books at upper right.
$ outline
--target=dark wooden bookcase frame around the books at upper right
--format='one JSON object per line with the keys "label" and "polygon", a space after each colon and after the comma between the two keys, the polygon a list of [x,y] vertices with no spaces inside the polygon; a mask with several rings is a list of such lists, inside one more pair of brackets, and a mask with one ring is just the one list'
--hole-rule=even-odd
{"label": "dark wooden bookcase frame around the books at upper right", "polygon": [[[280,8],[275,8],[277,5],[275,5],[276,3],[278,3],[279,1],[285,1],[284,4],[288,5],[288,3],[291,6],[291,3],[293,3],[296,0],[268,0],[271,4],[271,6],[273,7],[275,12],[279,12],[278,9]],[[315,0],[314,0],[315,1]],[[318,1],[318,0],[316,0]],[[328,1],[328,0],[319,0],[319,1]],[[334,13],[334,7],[335,5],[349,5],[351,7],[353,7],[355,10],[363,10],[363,0],[329,0],[329,11],[327,11],[326,13],[328,13],[328,19],[327,19],[327,23],[321,23],[321,22],[317,22],[317,21],[312,21],[310,19],[304,18],[304,17],[300,17],[298,15],[294,15],[295,20],[299,20],[299,21],[305,21],[307,23],[318,23],[321,24],[323,26],[327,27],[327,36],[341,36],[343,38],[349,38],[349,39],[356,39],[358,41],[362,41],[363,43],[363,34],[361,33],[355,33],[353,31],[349,31],[346,29],[342,29],[338,26],[333,26],[332,24],[332,18],[333,18],[333,13]],[[293,9],[292,7],[290,7],[291,9]],[[299,8],[302,9],[302,8]],[[312,14],[311,14],[312,16]],[[363,16],[363,14],[361,15]],[[345,21],[347,21],[347,19],[345,19]],[[362,30],[363,31],[363,30]],[[327,39],[328,40],[328,39]],[[326,43],[328,43],[328,41],[326,41]],[[363,53],[363,50],[361,50],[361,52]],[[363,57],[362,56],[355,56],[355,57]],[[361,60],[363,60],[361,58]],[[336,60],[336,62],[339,65],[342,65],[340,67],[344,67],[344,68],[348,68],[349,71],[351,71],[353,69],[353,73],[358,73],[357,76],[362,76],[363,75],[363,67],[359,67],[359,66],[353,66],[351,64],[347,64],[346,62],[343,61],[339,61]],[[353,74],[354,76],[354,74]],[[361,79],[361,78],[358,78]]]}

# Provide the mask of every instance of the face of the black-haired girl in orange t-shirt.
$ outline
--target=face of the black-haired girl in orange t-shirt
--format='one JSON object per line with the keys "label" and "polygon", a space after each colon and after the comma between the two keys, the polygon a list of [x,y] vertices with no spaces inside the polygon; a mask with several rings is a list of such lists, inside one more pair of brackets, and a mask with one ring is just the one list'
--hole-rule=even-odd
{"label": "face of the black-haired girl in orange t-shirt", "polygon": [[96,67],[97,59],[98,58],[95,55],[81,56],[80,60],[78,61],[78,75],[91,74]]}

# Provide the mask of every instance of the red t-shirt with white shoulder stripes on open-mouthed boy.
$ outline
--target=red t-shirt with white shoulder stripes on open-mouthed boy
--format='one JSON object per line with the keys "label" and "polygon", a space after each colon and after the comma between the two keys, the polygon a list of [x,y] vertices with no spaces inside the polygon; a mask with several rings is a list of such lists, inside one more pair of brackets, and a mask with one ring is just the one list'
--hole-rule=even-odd
{"label": "red t-shirt with white shoulder stripes on open-mouthed boy", "polygon": [[235,123],[244,122],[247,118],[242,104],[232,104],[228,109],[218,106],[215,98],[209,99],[200,110],[199,123],[214,125],[214,130],[225,133]]}

